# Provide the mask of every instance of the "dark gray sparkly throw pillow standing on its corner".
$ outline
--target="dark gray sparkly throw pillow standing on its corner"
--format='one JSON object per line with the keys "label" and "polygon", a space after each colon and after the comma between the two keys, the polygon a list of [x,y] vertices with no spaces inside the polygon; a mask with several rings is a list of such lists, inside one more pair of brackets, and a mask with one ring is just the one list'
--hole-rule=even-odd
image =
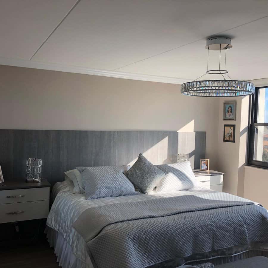
{"label": "dark gray sparkly throw pillow standing on its corner", "polygon": [[155,167],[140,153],[137,161],[126,172],[126,175],[136,188],[143,193],[148,193],[156,187],[166,173]]}

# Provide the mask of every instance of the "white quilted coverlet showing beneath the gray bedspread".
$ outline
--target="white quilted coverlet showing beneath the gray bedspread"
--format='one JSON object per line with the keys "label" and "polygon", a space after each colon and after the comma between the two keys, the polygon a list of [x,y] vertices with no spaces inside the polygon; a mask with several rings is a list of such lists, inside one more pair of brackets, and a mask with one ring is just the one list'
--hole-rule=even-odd
{"label": "white quilted coverlet showing beneath the gray bedspread", "polygon": [[[72,224],[77,218],[90,207],[100,207],[113,203],[124,203],[134,201],[144,201],[157,198],[165,198],[180,195],[200,195],[211,193],[213,190],[206,188],[193,188],[187,191],[173,191],[150,194],[126,195],[116,197],[105,197],[93,200],[86,200],[85,194],[74,194],[68,190],[65,182],[57,183],[52,192],[57,196],[49,212],[46,225],[59,232],[68,244],[72,247],[77,258],[85,262],[87,251],[83,238],[72,228]],[[85,223],[86,224],[86,223]],[[88,258],[87,258],[88,259]],[[93,267],[92,264],[87,267]]]}

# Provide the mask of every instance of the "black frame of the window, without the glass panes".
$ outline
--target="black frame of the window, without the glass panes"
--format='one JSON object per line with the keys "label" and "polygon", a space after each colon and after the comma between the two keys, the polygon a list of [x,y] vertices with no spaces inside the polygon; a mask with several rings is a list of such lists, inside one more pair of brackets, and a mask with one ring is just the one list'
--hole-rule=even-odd
{"label": "black frame of the window, without the glass panes", "polygon": [[256,126],[268,126],[268,123],[258,123],[258,104],[259,104],[259,89],[268,88],[256,87],[255,94],[251,97],[251,115],[250,115],[250,132],[249,132],[249,142],[248,142],[248,159],[247,164],[253,167],[260,167],[268,169],[268,162],[254,160],[254,140],[255,140],[255,127]]}

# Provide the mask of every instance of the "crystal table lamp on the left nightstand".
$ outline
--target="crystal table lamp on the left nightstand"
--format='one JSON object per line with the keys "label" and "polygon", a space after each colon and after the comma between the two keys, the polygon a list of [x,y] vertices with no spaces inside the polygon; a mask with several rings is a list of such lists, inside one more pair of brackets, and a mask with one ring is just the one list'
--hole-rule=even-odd
{"label": "crystal table lamp on the left nightstand", "polygon": [[42,159],[28,158],[26,160],[26,181],[40,182],[42,172]]}

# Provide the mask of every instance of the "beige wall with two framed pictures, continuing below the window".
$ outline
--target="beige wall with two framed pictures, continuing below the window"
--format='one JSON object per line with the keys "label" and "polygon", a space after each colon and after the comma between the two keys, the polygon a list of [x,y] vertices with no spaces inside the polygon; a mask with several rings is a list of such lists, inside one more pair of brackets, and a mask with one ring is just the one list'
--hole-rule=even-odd
{"label": "beige wall with two framed pictures, continuing below the window", "polygon": [[[262,82],[264,81],[264,83]],[[256,86],[267,85],[268,79],[252,81]],[[236,100],[236,121],[224,121],[223,103]],[[225,172],[223,191],[240,195],[268,208],[268,170],[246,166],[250,98],[219,99],[218,162],[216,169]],[[223,125],[236,125],[236,142],[223,142]]]}

